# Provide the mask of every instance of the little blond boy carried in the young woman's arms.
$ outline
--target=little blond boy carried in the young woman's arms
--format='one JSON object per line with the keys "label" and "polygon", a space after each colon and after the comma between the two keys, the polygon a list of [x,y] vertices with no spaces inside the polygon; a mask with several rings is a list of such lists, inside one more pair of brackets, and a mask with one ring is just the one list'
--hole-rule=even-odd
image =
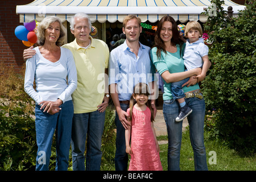
{"label": "little blond boy carried in the young woman's arms", "polygon": [[[208,59],[208,47],[204,44],[203,30],[199,22],[191,21],[188,22],[185,27],[185,36],[188,38],[186,47],[184,49],[184,65],[185,69],[190,70],[194,68],[202,68],[201,75],[196,76],[198,82],[204,80],[207,70],[210,67],[211,63]],[[180,113],[175,119],[176,122],[182,121],[185,117],[192,113],[192,109],[185,102],[185,94],[182,90],[182,86],[187,82],[189,78],[181,80],[179,82],[173,82],[171,86],[172,96],[180,104]],[[203,96],[199,93],[193,93],[195,97]]]}

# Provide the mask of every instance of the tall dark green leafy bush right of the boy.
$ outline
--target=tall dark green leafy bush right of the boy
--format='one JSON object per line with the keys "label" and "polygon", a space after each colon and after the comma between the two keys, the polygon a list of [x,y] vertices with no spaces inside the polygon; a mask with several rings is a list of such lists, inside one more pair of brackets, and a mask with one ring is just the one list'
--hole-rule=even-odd
{"label": "tall dark green leafy bush right of the boy", "polygon": [[[212,69],[203,81],[203,92],[211,119],[205,129],[244,152],[256,151],[256,2],[249,1],[238,17],[229,18],[213,0],[217,16],[209,16],[209,59]],[[205,14],[213,11],[210,7]]]}

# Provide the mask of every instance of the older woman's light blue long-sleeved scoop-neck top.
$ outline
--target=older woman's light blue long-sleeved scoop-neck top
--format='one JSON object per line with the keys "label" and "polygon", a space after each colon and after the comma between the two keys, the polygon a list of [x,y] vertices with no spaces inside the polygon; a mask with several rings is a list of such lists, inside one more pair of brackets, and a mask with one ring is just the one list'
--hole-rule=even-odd
{"label": "older woman's light blue long-sleeved scoop-neck top", "polygon": [[26,61],[25,92],[36,104],[42,101],[56,101],[57,98],[63,103],[72,100],[71,94],[77,87],[77,72],[72,52],[60,47],[60,59],[53,63],[41,55],[38,47],[35,47],[35,50],[36,55]]}

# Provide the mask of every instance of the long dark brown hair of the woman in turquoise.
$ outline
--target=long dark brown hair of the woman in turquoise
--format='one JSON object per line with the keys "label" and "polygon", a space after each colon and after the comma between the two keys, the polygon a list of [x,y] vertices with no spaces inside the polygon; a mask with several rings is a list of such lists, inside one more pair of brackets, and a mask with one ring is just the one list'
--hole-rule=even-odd
{"label": "long dark brown hair of the woman in turquoise", "polygon": [[158,56],[158,58],[160,58],[161,51],[163,51],[164,53],[167,53],[166,52],[166,46],[164,45],[163,40],[160,38],[160,32],[161,32],[163,23],[166,22],[166,21],[172,23],[171,43],[174,43],[175,45],[179,44],[179,46],[180,46],[180,56],[181,56],[181,45],[183,44],[183,42],[179,38],[180,34],[179,34],[179,30],[177,29],[177,24],[176,24],[174,18],[172,18],[172,16],[167,16],[167,15],[163,16],[163,18],[161,18],[159,20],[158,28],[155,32],[155,46],[154,47],[157,48],[156,55]]}

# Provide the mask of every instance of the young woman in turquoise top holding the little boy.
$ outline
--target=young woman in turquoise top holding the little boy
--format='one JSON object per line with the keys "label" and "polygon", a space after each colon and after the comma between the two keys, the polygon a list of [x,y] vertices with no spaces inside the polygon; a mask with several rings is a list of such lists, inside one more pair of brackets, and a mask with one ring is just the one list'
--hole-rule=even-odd
{"label": "young woman in turquoise top holding the little boy", "polygon": [[184,47],[185,44],[179,38],[175,20],[171,16],[164,16],[159,21],[155,35],[155,46],[150,53],[152,63],[164,80],[163,114],[168,132],[168,170],[180,170],[182,137],[182,121],[175,121],[180,113],[180,105],[171,94],[171,82],[184,80],[187,77],[190,79],[184,84],[187,86],[183,88],[183,91],[185,102],[193,110],[188,116],[188,122],[195,169],[207,170],[204,147],[205,102],[195,76],[201,74],[201,68],[184,72]]}

